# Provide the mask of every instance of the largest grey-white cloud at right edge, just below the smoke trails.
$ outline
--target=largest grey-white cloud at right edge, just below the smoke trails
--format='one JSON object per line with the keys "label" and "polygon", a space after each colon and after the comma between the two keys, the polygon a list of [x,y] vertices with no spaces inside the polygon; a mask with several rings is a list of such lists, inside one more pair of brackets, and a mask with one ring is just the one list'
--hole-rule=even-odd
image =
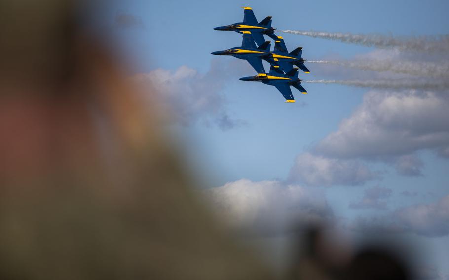
{"label": "largest grey-white cloud at right edge, just below the smoke trails", "polygon": [[449,99],[433,92],[370,91],[316,151],[338,158],[400,156],[449,143]]}

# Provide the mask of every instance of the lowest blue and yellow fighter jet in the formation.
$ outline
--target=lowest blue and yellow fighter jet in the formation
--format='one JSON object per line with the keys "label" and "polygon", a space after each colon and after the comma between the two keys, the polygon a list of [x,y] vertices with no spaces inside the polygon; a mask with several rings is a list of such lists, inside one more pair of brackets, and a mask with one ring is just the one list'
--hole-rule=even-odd
{"label": "lowest blue and yellow fighter jet in the formation", "polygon": [[295,67],[287,74],[284,74],[279,66],[271,65],[269,74],[257,74],[252,77],[240,78],[242,81],[262,82],[266,85],[275,86],[284,96],[286,102],[295,102],[290,86],[294,86],[301,93],[306,94],[307,91],[301,86],[301,81],[298,79],[298,68]]}

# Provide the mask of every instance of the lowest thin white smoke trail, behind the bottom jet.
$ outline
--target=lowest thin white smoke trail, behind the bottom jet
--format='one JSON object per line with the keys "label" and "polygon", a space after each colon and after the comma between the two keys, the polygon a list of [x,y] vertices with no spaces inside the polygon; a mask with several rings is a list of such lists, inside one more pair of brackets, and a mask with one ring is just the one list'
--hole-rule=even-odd
{"label": "lowest thin white smoke trail, behind the bottom jet", "polygon": [[341,84],[356,87],[384,88],[384,89],[449,89],[449,81],[426,80],[304,80],[305,83]]}

